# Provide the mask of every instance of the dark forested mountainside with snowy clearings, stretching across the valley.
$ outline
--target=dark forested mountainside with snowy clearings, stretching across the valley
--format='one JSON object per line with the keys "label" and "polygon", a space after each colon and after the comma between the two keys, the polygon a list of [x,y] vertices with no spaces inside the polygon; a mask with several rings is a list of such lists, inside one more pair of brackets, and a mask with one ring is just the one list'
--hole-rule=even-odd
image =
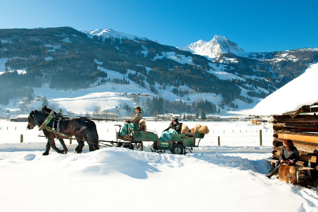
{"label": "dark forested mountainside with snowy clearings, stretching across the valley", "polygon": [[[242,89],[251,97],[264,98],[300,75],[309,63],[318,61],[317,51],[303,49],[254,53],[250,58],[224,53],[212,62],[173,46],[132,35],[113,36],[113,32],[108,30],[105,36],[71,27],[1,29],[0,58],[6,62],[0,74],[0,103],[25,96],[27,87],[76,90],[108,82],[128,83],[124,78],[110,79],[101,70],[104,68],[121,74],[128,70],[141,73],[129,73],[128,78],[144,88],[149,83],[155,94],[158,85],[163,89],[174,86],[176,95],[220,94],[222,104],[234,107],[235,99],[252,102],[242,95]],[[15,70],[25,71],[18,74]],[[180,89],[183,85],[190,90]],[[215,105],[211,107],[216,110]]]}

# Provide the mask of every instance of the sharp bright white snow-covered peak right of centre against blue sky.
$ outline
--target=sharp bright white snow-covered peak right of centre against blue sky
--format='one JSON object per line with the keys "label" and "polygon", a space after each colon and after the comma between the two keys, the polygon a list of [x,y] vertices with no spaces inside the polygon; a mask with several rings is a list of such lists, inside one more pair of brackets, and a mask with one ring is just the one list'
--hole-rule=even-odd
{"label": "sharp bright white snow-covered peak right of centre against blue sky", "polygon": [[209,58],[217,58],[222,53],[228,52],[243,57],[247,55],[236,43],[221,35],[215,35],[209,42],[200,39],[188,46],[177,48],[194,54],[208,56]]}

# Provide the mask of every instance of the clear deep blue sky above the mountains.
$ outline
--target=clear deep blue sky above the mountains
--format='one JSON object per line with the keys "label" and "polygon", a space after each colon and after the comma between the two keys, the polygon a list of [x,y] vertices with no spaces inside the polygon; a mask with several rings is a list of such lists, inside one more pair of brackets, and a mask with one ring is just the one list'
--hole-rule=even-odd
{"label": "clear deep blue sky above the mountains", "polygon": [[172,46],[219,34],[246,52],[270,52],[318,47],[317,2],[0,1],[0,28],[110,28]]}

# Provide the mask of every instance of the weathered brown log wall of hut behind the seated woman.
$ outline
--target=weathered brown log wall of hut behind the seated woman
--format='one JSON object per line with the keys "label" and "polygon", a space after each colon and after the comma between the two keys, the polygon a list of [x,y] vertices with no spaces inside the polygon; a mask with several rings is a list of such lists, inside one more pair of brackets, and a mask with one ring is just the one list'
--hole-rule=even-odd
{"label": "weathered brown log wall of hut behind the seated woman", "polygon": [[313,115],[274,116],[273,120],[273,158],[279,159],[284,139],[291,139],[298,149],[301,159],[299,166],[308,166],[318,170],[318,118]]}

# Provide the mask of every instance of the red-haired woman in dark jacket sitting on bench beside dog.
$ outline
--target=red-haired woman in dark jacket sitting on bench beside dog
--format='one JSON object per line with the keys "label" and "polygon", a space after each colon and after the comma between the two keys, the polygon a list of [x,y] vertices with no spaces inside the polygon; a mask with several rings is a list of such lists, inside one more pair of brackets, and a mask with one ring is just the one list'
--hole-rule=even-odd
{"label": "red-haired woman in dark jacket sitting on bench beside dog", "polygon": [[276,162],[274,170],[265,175],[268,178],[271,178],[274,174],[278,173],[280,162],[283,160],[287,160],[290,162],[291,166],[295,166],[296,162],[300,159],[299,152],[297,148],[294,146],[292,140],[285,139],[283,141],[284,146],[281,148],[279,160]]}

